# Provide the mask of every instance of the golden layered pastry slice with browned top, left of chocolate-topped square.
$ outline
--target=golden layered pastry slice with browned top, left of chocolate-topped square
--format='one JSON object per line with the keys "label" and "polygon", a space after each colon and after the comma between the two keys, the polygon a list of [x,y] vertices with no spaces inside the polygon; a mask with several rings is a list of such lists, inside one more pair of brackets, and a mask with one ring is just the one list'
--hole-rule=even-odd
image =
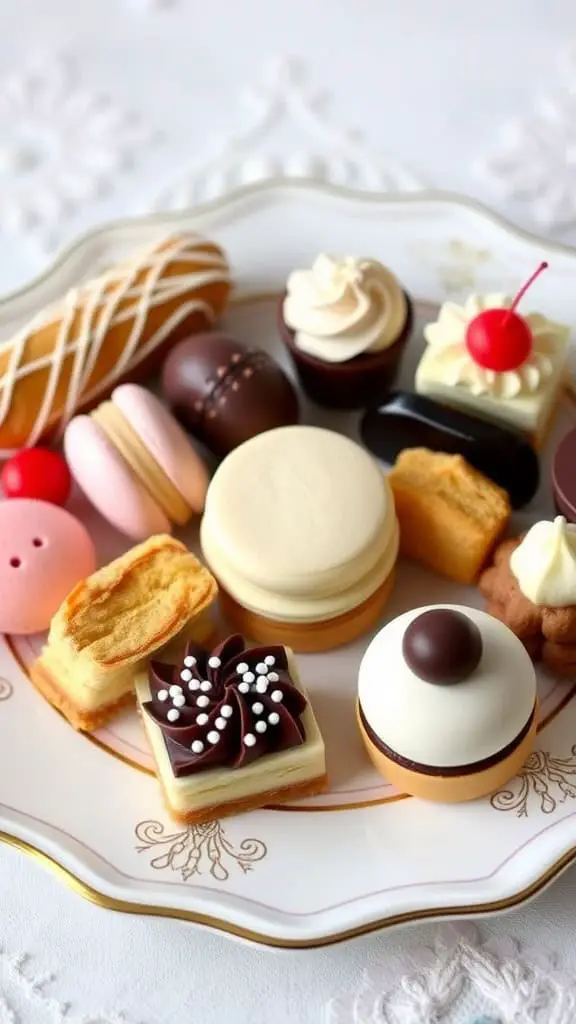
{"label": "golden layered pastry slice with browned top, left of chocolate-topped square", "polygon": [[203,642],[217,593],[179,541],[150,538],[69,594],[31,677],[76,728],[97,728],[130,697],[147,659],[180,633]]}

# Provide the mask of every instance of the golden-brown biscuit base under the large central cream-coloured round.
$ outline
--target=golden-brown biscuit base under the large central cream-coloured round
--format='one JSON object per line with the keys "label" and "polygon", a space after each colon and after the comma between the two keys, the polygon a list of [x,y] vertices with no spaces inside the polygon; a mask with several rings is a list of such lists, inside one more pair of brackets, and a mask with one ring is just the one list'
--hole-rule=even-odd
{"label": "golden-brown biscuit base under the large central cream-coloured round", "polygon": [[287,623],[258,615],[244,608],[220,588],[220,607],[230,623],[248,640],[261,644],[283,644],[298,654],[316,654],[343,647],[375,626],[392,594],[395,570],[370,597],[341,615],[319,623]]}

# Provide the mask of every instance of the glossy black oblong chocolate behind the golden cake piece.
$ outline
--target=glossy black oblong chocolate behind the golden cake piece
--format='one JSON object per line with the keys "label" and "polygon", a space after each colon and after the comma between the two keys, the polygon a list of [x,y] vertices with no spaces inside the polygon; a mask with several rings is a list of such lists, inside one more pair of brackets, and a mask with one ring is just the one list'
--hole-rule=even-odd
{"label": "glossy black oblong chocolate behind the golden cake piece", "polygon": [[462,455],[507,490],[515,509],[527,505],[538,489],[538,457],[526,438],[423,395],[396,391],[366,411],[360,432],[366,447],[390,466],[410,447]]}

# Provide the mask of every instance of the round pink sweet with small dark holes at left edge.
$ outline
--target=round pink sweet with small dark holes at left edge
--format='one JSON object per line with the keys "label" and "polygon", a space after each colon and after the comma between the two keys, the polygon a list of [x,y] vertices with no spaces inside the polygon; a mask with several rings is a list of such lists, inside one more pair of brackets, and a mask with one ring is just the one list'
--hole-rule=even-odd
{"label": "round pink sweet with small dark holes at left edge", "polygon": [[39,633],[70,591],[94,571],[86,528],[63,508],[0,501],[0,633]]}

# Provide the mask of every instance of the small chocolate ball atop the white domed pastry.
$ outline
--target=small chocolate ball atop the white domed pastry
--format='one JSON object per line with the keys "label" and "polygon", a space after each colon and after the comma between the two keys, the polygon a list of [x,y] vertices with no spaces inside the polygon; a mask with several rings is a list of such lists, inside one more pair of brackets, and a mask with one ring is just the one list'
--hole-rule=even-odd
{"label": "small chocolate ball atop the white domed pastry", "polygon": [[402,641],[402,653],[419,679],[453,686],[467,679],[482,657],[482,635],[461,611],[430,608],[412,620]]}

